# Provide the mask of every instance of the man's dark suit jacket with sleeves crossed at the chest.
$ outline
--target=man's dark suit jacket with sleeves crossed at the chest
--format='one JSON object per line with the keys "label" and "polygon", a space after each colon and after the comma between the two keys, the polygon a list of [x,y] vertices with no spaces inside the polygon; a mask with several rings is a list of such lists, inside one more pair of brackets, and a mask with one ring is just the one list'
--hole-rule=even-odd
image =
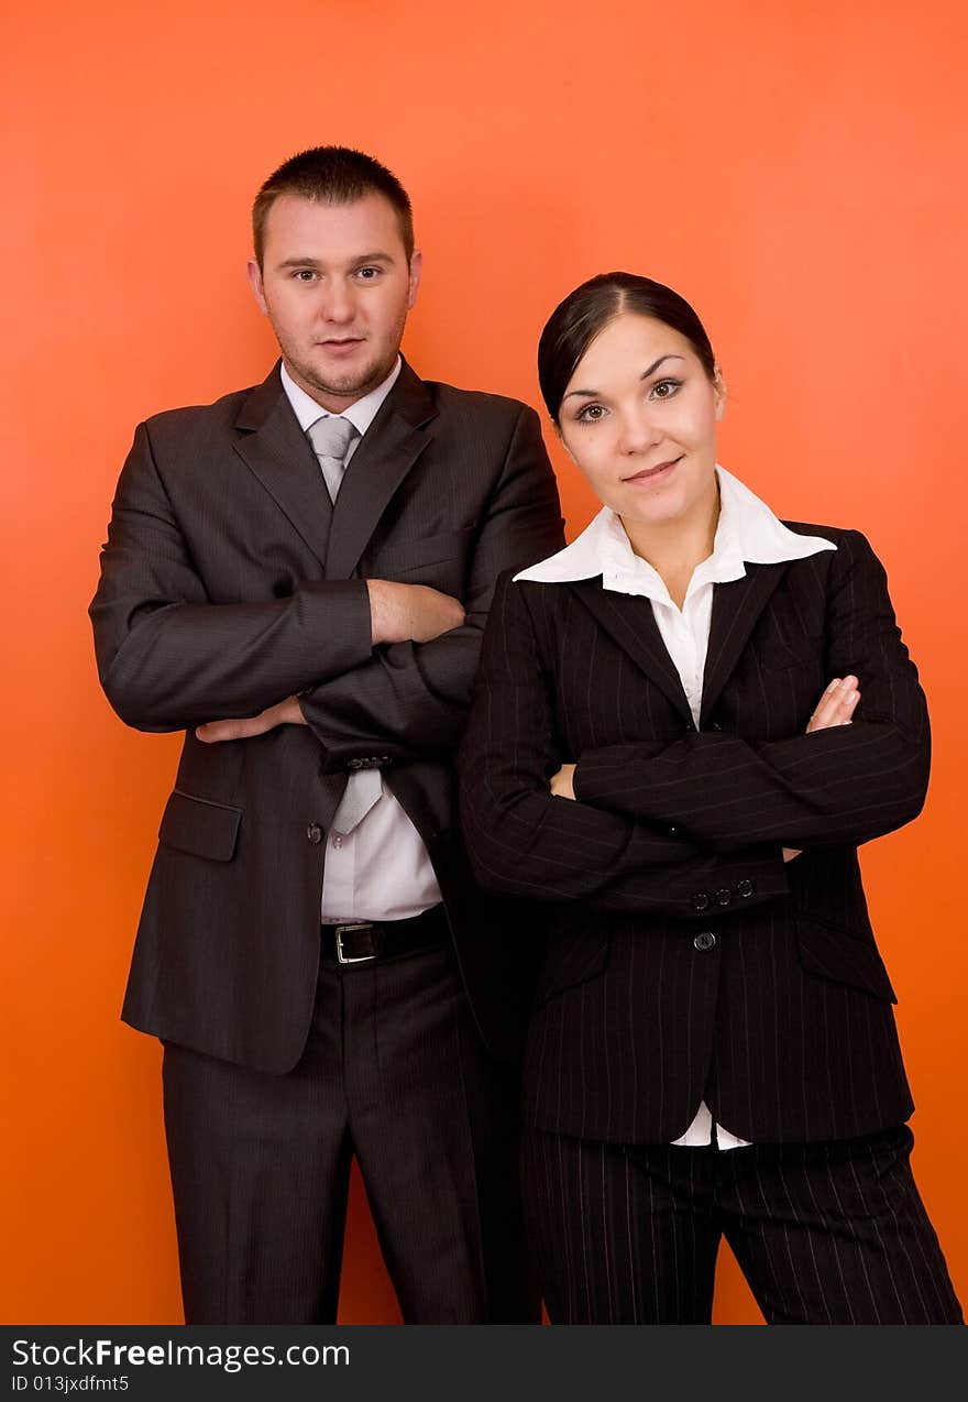
{"label": "man's dark suit jacket with sleeves crossed at the chest", "polygon": [[[500,571],[562,544],[534,411],[408,365],[332,506],[276,367],[255,390],[140,425],[91,604],[123,721],[186,729],[123,1016],[262,1071],[300,1059],[315,997],[325,833],[377,765],[427,845],[485,1040],[514,1050],[527,960],[473,887],[452,751]],[[461,599],[464,627],[371,646],[364,578]],[[301,693],[305,726],[203,744],[192,726]]]}

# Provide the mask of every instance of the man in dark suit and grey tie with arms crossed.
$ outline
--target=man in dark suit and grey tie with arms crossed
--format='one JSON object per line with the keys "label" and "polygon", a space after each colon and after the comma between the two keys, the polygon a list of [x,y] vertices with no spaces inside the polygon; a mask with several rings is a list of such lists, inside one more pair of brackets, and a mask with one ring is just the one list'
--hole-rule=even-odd
{"label": "man in dark suit and grey tie with arms crossed", "polygon": [[91,606],[122,719],[186,730],[123,1011],[165,1043],[186,1321],[332,1322],[353,1155],[408,1322],[527,1321],[537,931],[471,883],[451,756],[496,576],[562,543],[553,475],[531,409],[401,359],[382,165],[293,157],[254,236],[282,366],[139,426]]}

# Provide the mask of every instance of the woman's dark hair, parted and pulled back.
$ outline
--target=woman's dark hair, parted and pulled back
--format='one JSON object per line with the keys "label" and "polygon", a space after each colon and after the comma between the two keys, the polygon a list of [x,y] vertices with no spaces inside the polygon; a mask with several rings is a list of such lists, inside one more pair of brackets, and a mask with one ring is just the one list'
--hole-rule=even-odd
{"label": "woman's dark hair, parted and pulled back", "polygon": [[609,321],[623,311],[653,317],[686,338],[710,380],[716,356],[706,329],[685,297],[651,278],[630,272],[602,272],[570,292],[552,311],[538,342],[538,381],[548,412],[558,412],[581,356]]}

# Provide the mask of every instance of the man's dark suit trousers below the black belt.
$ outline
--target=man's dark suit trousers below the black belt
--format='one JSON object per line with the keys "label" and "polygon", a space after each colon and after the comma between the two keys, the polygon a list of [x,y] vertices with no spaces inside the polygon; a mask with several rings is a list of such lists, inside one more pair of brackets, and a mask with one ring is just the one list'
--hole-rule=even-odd
{"label": "man's dark suit trousers below the black belt", "polygon": [[353,1155],[405,1322],[537,1322],[518,1077],[450,948],[322,962],[286,1075],[171,1043],[163,1074],[188,1323],[335,1322]]}

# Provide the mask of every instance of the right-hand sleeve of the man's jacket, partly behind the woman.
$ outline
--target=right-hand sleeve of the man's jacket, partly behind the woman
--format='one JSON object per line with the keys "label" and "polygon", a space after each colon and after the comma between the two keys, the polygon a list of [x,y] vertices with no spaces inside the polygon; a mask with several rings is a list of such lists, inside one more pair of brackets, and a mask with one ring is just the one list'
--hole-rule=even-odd
{"label": "right-hand sleeve of the man's jacket, partly behind the woman", "polygon": [[300,697],[326,771],[378,747],[387,760],[452,756],[471,704],[495,580],[565,543],[558,485],[534,409],[521,405],[478,533],[465,622],[431,642],[377,648],[364,666]]}

